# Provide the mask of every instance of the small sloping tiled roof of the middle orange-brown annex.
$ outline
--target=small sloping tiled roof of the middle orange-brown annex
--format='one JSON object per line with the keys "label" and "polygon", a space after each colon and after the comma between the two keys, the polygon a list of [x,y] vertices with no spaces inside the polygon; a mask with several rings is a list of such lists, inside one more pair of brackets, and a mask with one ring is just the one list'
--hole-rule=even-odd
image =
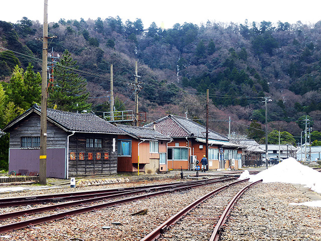
{"label": "small sloping tiled roof of the middle orange-brown annex", "polygon": [[139,139],[147,139],[147,140],[171,140],[169,136],[163,135],[159,132],[156,132],[152,128],[147,127],[133,127],[127,125],[118,125],[118,128],[131,134],[134,137]]}

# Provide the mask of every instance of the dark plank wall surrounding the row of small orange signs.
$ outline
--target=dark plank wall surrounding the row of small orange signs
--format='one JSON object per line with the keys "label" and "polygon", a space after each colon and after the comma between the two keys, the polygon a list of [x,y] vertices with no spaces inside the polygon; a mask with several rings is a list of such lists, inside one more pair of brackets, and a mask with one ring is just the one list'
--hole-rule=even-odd
{"label": "dark plank wall surrounding the row of small orange signs", "polygon": [[[101,138],[101,149],[87,149],[87,138]],[[112,152],[113,138],[115,138],[115,152]],[[70,153],[75,153],[76,160],[70,160]],[[84,160],[80,160],[79,154],[84,153]],[[93,154],[93,160],[88,159],[88,153]],[[100,160],[96,159],[100,153]],[[104,159],[104,153],[109,154],[108,160]],[[69,176],[94,175],[117,173],[117,136],[109,134],[86,134],[76,133],[69,138]]]}

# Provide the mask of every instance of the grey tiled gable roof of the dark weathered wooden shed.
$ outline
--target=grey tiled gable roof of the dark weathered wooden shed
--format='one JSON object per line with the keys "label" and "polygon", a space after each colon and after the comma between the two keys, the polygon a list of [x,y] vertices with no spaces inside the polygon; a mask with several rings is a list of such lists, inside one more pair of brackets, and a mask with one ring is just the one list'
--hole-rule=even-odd
{"label": "grey tiled gable roof of the dark weathered wooden shed", "polygon": [[[41,114],[41,109],[38,105],[34,105],[25,113],[14,119],[14,121],[9,123],[5,129],[9,129],[32,112]],[[121,129],[104,121],[104,119],[93,113],[73,113],[47,108],[47,119],[55,125],[60,126],[62,129],[70,132],[125,134]]]}

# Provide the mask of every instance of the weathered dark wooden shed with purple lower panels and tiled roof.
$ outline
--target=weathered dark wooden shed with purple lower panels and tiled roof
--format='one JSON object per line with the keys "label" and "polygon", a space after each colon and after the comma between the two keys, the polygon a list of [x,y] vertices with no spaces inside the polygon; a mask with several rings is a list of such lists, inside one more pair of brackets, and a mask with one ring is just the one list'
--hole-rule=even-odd
{"label": "weathered dark wooden shed with purple lower panels and tiled roof", "polygon": [[[40,114],[34,105],[10,122],[9,173],[39,173]],[[93,113],[47,109],[47,177],[117,172],[119,128]]]}

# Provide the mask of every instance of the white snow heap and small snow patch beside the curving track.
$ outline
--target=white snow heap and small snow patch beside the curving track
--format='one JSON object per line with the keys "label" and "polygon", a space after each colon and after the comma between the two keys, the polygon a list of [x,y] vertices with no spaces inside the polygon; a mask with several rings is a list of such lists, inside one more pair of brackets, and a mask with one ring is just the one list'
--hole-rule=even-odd
{"label": "white snow heap and small snow patch beside the curving track", "polygon": [[[321,172],[300,164],[292,157],[285,159],[279,164],[269,167],[256,175],[250,175],[249,172],[245,170],[239,179],[246,178],[250,178],[250,182],[256,182],[262,179],[263,183],[282,182],[301,184],[312,191],[321,193]],[[321,207],[321,200],[295,203],[294,205]]]}

